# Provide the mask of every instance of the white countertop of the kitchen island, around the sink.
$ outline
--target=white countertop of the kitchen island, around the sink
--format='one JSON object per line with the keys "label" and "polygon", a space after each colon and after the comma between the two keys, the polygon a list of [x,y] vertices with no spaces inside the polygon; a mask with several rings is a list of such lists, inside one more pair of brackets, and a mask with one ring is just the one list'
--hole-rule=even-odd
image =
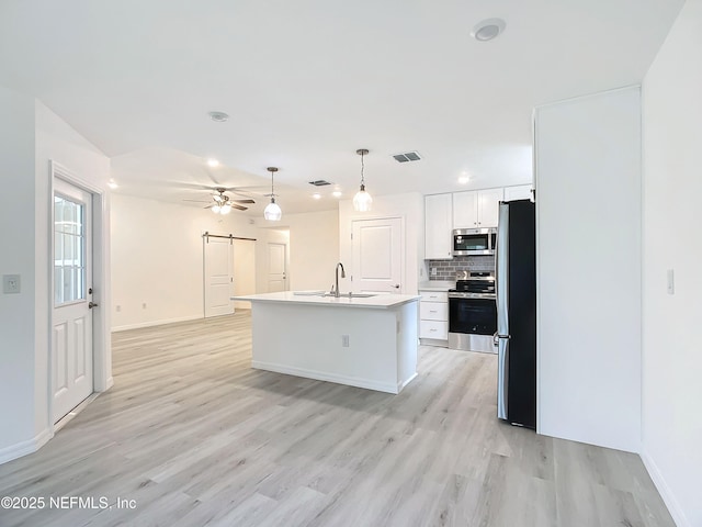
{"label": "white countertop of the kitchen island, around the sink", "polygon": [[375,294],[373,296],[349,296],[347,293],[336,296],[322,296],[322,291],[281,291],[278,293],[248,294],[244,296],[233,296],[231,300],[242,300],[248,302],[275,302],[288,305],[319,305],[332,307],[362,307],[387,310],[397,307],[420,299],[417,294]]}

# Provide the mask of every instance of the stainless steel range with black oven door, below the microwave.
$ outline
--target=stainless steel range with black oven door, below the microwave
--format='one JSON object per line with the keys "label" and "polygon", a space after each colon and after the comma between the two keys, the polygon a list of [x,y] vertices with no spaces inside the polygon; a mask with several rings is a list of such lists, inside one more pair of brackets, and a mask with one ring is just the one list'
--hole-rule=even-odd
{"label": "stainless steel range with black oven door, below the microwave", "polygon": [[449,347],[495,354],[496,332],[495,273],[458,272],[456,289],[449,290]]}

